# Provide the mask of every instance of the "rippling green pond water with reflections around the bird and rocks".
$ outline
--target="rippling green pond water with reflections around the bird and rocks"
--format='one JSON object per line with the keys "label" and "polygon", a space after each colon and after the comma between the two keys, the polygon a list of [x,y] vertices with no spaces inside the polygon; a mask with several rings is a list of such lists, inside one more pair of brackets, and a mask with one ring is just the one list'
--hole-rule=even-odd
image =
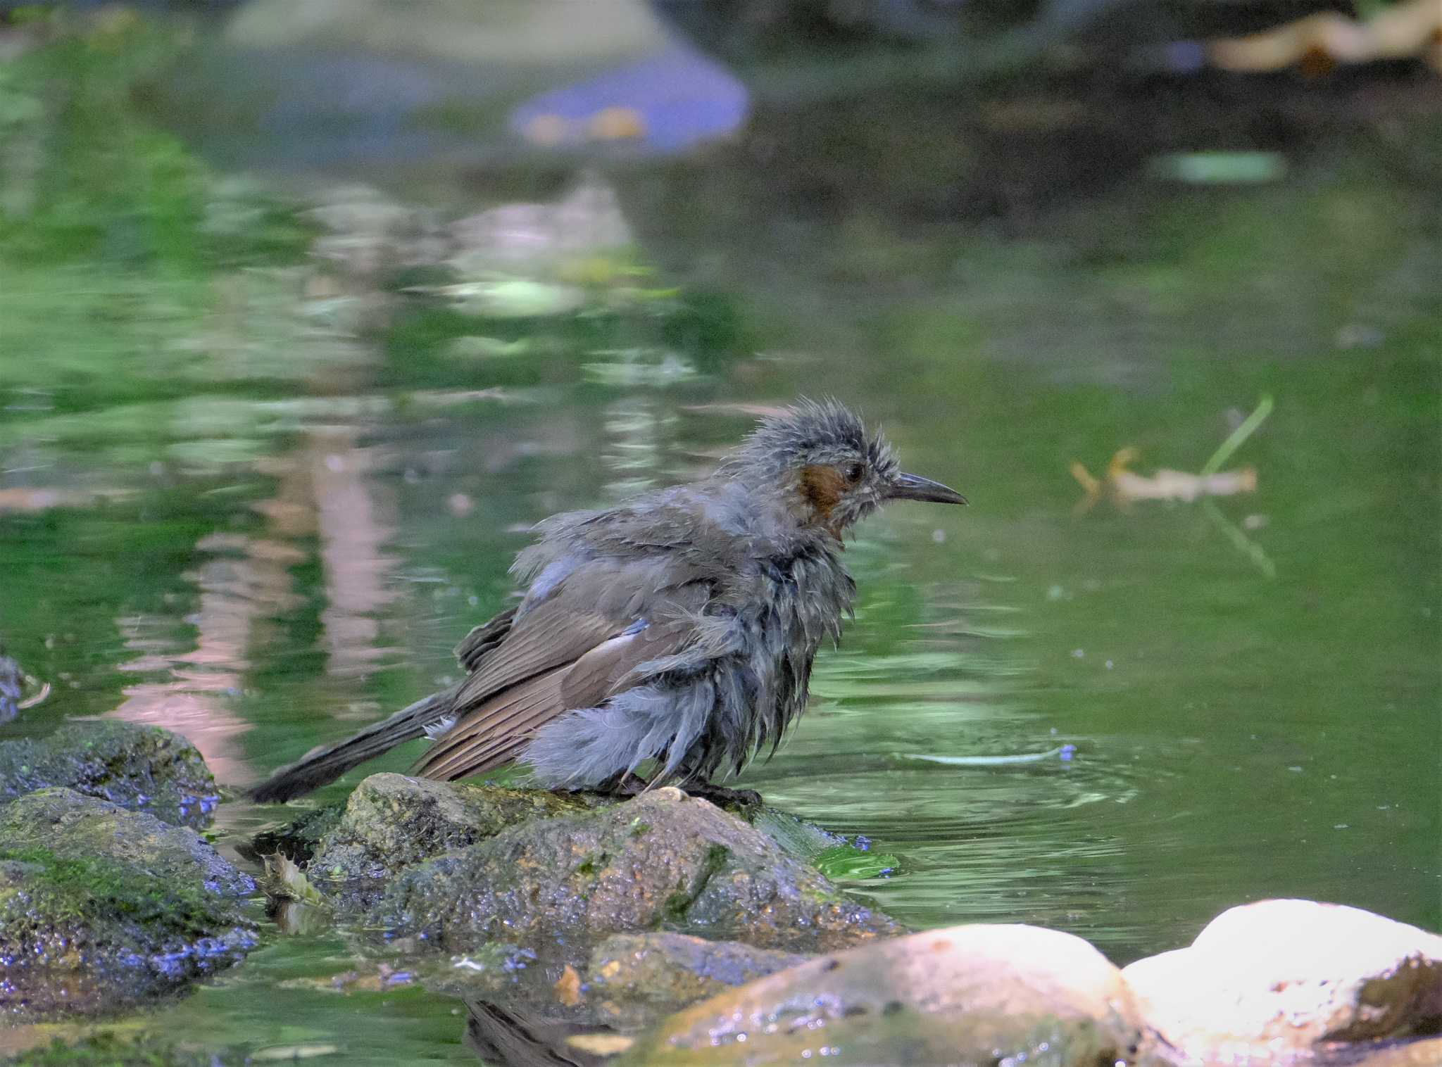
{"label": "rippling green pond water with reflections around the bird and rocks", "polygon": [[[645,294],[476,320],[395,278],[309,291],[314,219],[151,127],[118,62],[0,66],[0,636],[52,683],[0,737],[153,722],[254,782],[454,678],[529,523],[702,470],[734,405],[828,392],[972,500],[859,529],[855,623],[741,782],[900,858],[855,890],[1123,963],[1262,897],[1442,926],[1435,169],[1337,136],[1276,183],[1118,177],[1017,225],[698,211],[686,170],[626,172]],[[75,75],[59,102],[46,63]],[[1436,120],[1412,144],[1442,159]],[[1195,473],[1262,395],[1227,464],[1256,492],[1076,512],[1073,461]],[[222,806],[222,848],[280,818]],[[306,982],[353,965],[271,933],[150,1022],[474,1063],[456,1001]]]}

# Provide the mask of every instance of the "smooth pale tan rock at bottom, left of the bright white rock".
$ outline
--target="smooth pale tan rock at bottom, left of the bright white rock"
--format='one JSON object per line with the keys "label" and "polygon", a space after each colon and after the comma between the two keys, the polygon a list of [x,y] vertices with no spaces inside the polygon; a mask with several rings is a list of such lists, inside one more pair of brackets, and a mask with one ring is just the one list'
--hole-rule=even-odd
{"label": "smooth pale tan rock at bottom, left of the bright white rock", "polygon": [[1136,1063],[1120,972],[1080,937],[957,926],[865,944],[688,1008],[629,1064]]}

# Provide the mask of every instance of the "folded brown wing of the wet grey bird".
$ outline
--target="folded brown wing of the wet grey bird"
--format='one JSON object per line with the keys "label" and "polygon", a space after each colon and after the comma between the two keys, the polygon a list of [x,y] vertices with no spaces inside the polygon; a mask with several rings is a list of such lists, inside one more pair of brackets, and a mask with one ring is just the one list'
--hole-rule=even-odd
{"label": "folded brown wing of the wet grey bird", "polygon": [[643,614],[633,614],[597,611],[587,583],[574,588],[561,587],[521,614],[464,683],[456,725],[427,750],[417,773],[451,780],[515,760],[539,727],[596,707],[629,688],[639,665],[685,647],[694,613],[709,597],[705,583],[691,583],[646,597]]}

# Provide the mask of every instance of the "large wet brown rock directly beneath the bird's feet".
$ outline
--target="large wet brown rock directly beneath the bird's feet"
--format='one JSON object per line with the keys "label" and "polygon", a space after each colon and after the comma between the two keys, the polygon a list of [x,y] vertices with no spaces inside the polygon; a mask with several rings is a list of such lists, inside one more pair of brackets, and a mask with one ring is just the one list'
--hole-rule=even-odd
{"label": "large wet brown rock directly beneath the bird's feet", "polygon": [[[317,856],[319,859],[319,856]],[[438,949],[671,929],[790,950],[900,933],[740,819],[678,789],[522,823],[404,871],[368,921]]]}

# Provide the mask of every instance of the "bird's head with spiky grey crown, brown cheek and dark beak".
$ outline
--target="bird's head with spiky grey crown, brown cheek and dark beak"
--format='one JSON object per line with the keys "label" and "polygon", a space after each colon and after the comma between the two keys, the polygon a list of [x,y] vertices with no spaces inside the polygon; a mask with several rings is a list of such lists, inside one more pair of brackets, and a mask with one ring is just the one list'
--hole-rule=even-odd
{"label": "bird's head with spiky grey crown, brown cheek and dark beak", "polygon": [[907,474],[880,434],[836,401],[802,401],[763,421],[722,474],[776,489],[802,522],[835,536],[888,500],[966,503],[940,482]]}

